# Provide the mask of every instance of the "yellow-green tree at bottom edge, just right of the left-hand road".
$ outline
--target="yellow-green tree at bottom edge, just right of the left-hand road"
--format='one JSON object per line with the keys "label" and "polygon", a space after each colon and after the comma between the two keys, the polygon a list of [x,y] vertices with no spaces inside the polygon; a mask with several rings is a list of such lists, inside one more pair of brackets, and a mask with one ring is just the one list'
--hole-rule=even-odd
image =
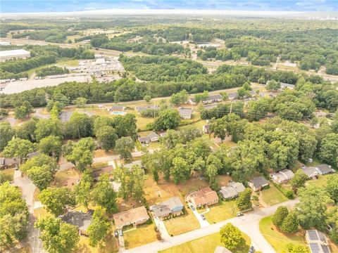
{"label": "yellow-green tree at bottom edge, just right of the left-hand road", "polygon": [[35,228],[39,228],[40,238],[44,249],[49,253],[68,253],[77,249],[80,235],[77,228],[51,214],[47,214],[35,222]]}

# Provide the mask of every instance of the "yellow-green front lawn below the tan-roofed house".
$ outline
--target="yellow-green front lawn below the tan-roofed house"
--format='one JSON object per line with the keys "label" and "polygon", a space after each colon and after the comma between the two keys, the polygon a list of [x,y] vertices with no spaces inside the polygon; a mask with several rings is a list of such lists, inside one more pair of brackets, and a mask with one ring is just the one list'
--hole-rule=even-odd
{"label": "yellow-green front lawn below the tan-roofed house", "polygon": [[125,247],[131,249],[157,240],[153,223],[137,226],[136,229],[123,232]]}

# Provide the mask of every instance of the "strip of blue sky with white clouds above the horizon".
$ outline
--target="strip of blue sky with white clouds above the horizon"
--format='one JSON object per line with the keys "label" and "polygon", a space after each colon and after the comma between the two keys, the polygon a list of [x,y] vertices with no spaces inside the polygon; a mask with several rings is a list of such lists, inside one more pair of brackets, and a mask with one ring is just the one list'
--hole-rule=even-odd
{"label": "strip of blue sky with white clouds above the horizon", "polygon": [[1,13],[102,9],[189,9],[232,11],[338,11],[338,0],[1,0]]}

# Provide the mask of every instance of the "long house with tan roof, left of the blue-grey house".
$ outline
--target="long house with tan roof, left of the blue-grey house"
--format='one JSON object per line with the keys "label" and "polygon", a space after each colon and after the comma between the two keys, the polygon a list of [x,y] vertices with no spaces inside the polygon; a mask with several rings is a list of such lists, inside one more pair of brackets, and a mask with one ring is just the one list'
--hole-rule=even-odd
{"label": "long house with tan roof, left of the blue-grey house", "polygon": [[115,221],[115,227],[122,229],[124,226],[132,224],[136,227],[137,225],[148,221],[149,215],[148,212],[146,212],[146,207],[142,206],[113,214],[113,219]]}

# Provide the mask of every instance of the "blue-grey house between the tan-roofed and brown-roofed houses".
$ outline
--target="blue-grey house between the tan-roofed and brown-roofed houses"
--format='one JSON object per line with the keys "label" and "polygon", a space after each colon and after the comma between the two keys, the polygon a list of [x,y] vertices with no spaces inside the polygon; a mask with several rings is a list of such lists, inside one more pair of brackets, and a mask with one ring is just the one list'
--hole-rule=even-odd
{"label": "blue-grey house between the tan-roofed and brown-roofed houses", "polygon": [[153,212],[155,218],[163,219],[168,216],[183,214],[183,207],[180,197],[171,197],[169,200],[152,205],[149,209]]}

